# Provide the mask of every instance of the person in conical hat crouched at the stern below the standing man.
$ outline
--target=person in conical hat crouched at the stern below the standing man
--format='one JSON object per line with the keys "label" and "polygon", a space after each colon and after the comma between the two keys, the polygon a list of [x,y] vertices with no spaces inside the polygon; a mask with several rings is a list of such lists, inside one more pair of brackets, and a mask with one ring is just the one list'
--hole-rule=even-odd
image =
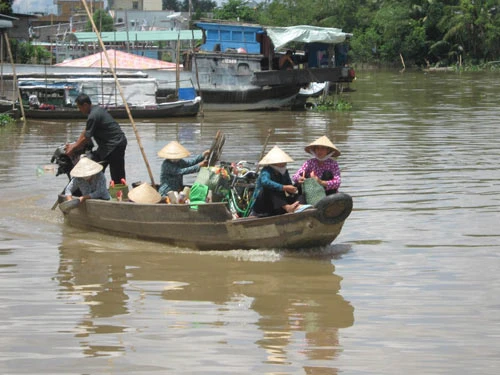
{"label": "person in conical hat crouched at the stern below the standing man", "polygon": [[82,156],[70,172],[72,179],[64,190],[66,200],[73,199],[73,194],[78,191],[80,202],[86,199],[111,199],[102,168],[101,164]]}

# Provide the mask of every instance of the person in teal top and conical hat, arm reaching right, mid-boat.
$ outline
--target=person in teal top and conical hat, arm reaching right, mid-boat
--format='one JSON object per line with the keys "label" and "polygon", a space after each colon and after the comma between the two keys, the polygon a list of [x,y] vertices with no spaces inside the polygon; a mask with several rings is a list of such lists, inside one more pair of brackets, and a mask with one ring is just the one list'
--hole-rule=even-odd
{"label": "person in teal top and conical hat, arm reaching right, mid-boat", "polygon": [[187,158],[191,153],[176,141],[170,142],[158,151],[158,156],[165,159],[161,165],[158,189],[161,196],[166,196],[169,191],[181,191],[184,186],[182,176],[196,173],[201,167],[206,167],[209,153],[210,151],[206,150],[200,155]]}

